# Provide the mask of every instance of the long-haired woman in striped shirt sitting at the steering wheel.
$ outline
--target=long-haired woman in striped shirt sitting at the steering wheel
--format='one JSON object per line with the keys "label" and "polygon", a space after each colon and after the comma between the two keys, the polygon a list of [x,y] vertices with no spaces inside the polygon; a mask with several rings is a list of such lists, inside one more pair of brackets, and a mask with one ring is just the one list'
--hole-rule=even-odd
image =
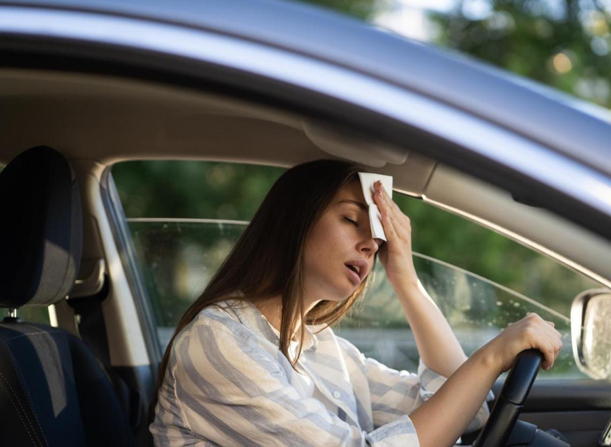
{"label": "long-haired woman in striped shirt sitting at the steering wheel", "polygon": [[[166,349],[156,445],[447,446],[485,422],[492,383],[519,352],[538,348],[552,366],[560,333],[536,314],[467,359],[418,281],[409,218],[379,184],[387,242],[371,237],[362,170],[312,161],[271,188]],[[417,374],[364,358],[329,328],[378,255],[414,333]]]}

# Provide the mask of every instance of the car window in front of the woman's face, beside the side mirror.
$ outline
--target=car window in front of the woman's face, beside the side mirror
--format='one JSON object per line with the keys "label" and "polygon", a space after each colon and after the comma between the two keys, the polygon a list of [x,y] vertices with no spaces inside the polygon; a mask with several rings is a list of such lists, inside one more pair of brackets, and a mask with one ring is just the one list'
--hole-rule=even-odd
{"label": "car window in front of the woman's face, beside the side mirror", "polygon": [[[571,301],[601,284],[497,232],[433,205],[393,193],[412,223],[414,265],[467,355],[503,328],[537,312],[563,334],[563,349],[543,379],[585,378],[574,363],[569,320]],[[393,368],[417,368],[415,341],[398,300],[376,266],[370,294],[338,334],[365,355]],[[372,336],[375,333],[375,336]]]}

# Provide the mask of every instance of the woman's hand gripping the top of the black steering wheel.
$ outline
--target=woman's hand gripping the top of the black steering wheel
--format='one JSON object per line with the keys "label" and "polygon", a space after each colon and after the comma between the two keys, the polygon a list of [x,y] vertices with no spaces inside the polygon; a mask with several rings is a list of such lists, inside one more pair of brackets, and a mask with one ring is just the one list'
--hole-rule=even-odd
{"label": "woman's hand gripping the top of the black steering wheel", "polygon": [[546,321],[533,312],[521,320],[511,323],[502,333],[493,338],[481,350],[499,368],[499,375],[511,368],[513,361],[525,349],[535,348],[544,355],[541,368],[549,369],[562,348],[562,334],[555,330],[554,323]]}

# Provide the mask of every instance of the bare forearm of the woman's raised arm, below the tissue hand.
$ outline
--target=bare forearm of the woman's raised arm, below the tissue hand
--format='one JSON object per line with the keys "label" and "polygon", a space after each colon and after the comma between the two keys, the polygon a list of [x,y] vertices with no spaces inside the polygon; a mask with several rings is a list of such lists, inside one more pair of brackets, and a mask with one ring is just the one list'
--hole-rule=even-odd
{"label": "bare forearm of the woman's raised arm, below the tissue hand", "polygon": [[450,377],[467,360],[452,328],[420,281],[397,289],[420,358],[429,368]]}

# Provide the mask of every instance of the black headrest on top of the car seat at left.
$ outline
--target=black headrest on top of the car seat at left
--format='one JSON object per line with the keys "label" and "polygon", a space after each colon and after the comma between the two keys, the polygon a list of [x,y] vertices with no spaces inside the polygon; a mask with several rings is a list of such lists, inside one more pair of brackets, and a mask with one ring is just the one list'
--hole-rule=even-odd
{"label": "black headrest on top of the car seat at left", "polygon": [[81,199],[68,161],[46,146],[0,172],[0,307],[65,298],[81,265]]}

